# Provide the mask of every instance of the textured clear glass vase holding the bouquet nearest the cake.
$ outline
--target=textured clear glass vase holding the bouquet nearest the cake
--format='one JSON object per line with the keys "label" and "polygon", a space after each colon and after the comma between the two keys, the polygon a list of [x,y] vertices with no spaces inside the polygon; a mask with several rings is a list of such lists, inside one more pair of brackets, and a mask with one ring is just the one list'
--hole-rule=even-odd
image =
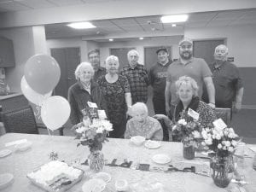
{"label": "textured clear glass vase holding the bouquet nearest the cake", "polygon": [[92,172],[102,172],[104,166],[104,155],[102,151],[96,150],[89,154],[89,166]]}

